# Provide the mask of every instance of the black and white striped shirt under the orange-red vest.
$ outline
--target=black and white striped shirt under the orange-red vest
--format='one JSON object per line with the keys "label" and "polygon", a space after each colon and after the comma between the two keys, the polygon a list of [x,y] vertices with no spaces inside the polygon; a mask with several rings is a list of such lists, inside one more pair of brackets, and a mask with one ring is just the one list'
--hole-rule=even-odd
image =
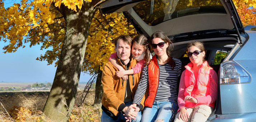
{"label": "black and white striped shirt under the orange-red vest", "polygon": [[[177,103],[177,83],[178,77],[181,75],[181,61],[173,58],[175,67],[167,64],[159,65],[159,84],[155,101],[170,101]],[[140,104],[142,97],[148,88],[148,66],[143,68],[141,79],[135,93],[133,103]]]}

